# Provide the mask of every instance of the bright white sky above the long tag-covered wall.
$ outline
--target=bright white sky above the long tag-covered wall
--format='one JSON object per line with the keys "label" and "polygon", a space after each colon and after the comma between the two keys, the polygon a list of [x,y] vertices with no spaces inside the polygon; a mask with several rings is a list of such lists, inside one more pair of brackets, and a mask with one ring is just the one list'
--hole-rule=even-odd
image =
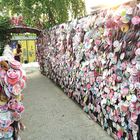
{"label": "bright white sky above the long tag-covered wall", "polygon": [[115,6],[130,0],[85,0],[87,14],[90,13],[91,7],[105,5],[105,6]]}

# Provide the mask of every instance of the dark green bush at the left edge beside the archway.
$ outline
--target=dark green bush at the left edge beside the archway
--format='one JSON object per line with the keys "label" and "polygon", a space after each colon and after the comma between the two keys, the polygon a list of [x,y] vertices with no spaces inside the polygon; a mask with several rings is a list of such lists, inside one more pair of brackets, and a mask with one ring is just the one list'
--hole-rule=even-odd
{"label": "dark green bush at the left edge beside the archway", "polygon": [[10,19],[9,17],[0,16],[0,56],[4,50],[4,45],[9,40],[9,35],[7,34],[7,29],[10,28]]}

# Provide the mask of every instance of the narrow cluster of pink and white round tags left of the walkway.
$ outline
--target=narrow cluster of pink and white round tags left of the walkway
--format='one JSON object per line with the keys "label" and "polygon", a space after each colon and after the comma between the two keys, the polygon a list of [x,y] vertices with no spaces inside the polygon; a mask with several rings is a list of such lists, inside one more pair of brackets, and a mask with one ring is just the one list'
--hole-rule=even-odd
{"label": "narrow cluster of pink and white round tags left of the walkway", "polygon": [[0,57],[0,139],[19,140],[26,74],[7,45]]}

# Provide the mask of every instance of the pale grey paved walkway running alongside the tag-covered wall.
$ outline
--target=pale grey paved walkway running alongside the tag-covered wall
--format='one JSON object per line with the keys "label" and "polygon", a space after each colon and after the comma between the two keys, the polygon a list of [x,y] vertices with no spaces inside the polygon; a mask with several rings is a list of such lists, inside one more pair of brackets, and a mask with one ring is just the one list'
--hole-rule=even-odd
{"label": "pale grey paved walkway running alongside the tag-covered wall", "polygon": [[78,105],[39,72],[24,90],[23,140],[112,140]]}

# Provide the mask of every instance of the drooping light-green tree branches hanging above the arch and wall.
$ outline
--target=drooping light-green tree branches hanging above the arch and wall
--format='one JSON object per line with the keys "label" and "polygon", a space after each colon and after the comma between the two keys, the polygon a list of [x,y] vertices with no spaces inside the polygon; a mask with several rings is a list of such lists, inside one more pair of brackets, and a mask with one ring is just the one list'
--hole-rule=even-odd
{"label": "drooping light-green tree branches hanging above the arch and wall", "polygon": [[0,11],[22,15],[27,26],[49,28],[84,16],[85,4],[83,0],[1,0]]}

